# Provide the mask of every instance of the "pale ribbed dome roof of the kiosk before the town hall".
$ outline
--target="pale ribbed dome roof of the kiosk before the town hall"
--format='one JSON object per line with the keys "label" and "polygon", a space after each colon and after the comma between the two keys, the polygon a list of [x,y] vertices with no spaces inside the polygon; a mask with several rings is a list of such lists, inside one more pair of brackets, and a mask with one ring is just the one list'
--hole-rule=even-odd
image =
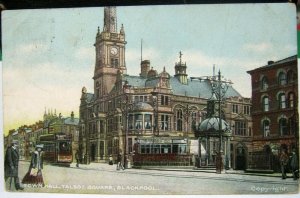
{"label": "pale ribbed dome roof of the kiosk before the town hall", "polygon": [[[229,130],[229,124],[225,122],[225,120],[221,120],[221,129],[222,131],[228,131]],[[205,132],[205,131],[219,131],[219,118],[212,117],[207,118],[201,124],[199,125],[199,131]]]}

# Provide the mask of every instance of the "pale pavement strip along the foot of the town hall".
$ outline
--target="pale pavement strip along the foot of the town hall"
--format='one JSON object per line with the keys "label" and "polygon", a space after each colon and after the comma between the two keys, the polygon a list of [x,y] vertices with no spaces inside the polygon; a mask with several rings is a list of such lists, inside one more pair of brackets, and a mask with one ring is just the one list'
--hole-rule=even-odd
{"label": "pale pavement strip along the foot of the town hall", "polygon": [[[72,163],[71,168],[77,168],[75,163]],[[93,169],[93,170],[116,170],[116,164],[108,165],[107,163],[90,163],[90,164],[80,164],[81,169]],[[216,173],[215,169],[212,168],[196,168],[196,167],[168,167],[168,166],[144,166],[138,168],[128,168],[126,171],[130,170],[156,170],[156,171],[177,171],[177,172],[204,172],[204,173]],[[217,174],[217,173],[216,173]],[[225,170],[221,174],[238,174],[238,175],[249,175],[249,176],[264,176],[264,177],[279,177],[281,178],[281,173],[263,173],[263,172],[245,172],[243,170]],[[288,177],[292,177],[291,173],[288,173]]]}

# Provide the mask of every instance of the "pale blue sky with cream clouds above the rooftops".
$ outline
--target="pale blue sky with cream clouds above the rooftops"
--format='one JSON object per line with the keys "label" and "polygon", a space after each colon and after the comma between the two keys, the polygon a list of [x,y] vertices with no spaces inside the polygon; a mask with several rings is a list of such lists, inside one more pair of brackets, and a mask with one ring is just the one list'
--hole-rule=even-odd
{"label": "pale blue sky with cream clouds above the rooftops", "polygon": [[[293,4],[117,7],[126,34],[127,73],[139,75],[140,48],[158,72],[212,75],[213,65],[244,97],[246,71],[297,53]],[[8,10],[2,13],[4,133],[43,118],[45,109],[78,117],[81,89],[93,92],[94,42],[103,8]]]}

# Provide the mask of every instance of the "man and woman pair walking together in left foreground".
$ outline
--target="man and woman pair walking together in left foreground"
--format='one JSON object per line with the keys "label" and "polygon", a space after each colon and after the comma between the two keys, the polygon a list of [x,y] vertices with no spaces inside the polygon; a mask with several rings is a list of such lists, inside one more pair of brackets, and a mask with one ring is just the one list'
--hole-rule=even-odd
{"label": "man and woman pair walking together in left foreground", "polygon": [[[23,184],[36,184],[44,186],[42,175],[43,169],[43,145],[36,145],[35,151],[32,152],[29,169],[22,179]],[[8,190],[23,190],[19,179],[19,151],[17,142],[13,141],[7,148],[4,160],[5,183]]]}

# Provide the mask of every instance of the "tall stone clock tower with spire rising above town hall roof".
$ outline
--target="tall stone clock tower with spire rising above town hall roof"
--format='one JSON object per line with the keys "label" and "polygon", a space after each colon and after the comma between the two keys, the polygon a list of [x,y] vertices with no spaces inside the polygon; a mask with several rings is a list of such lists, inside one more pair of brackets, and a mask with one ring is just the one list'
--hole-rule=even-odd
{"label": "tall stone clock tower with spire rising above town hall roof", "polygon": [[117,32],[116,7],[105,7],[103,30],[100,32],[98,27],[94,44],[96,62],[93,79],[96,98],[101,98],[112,90],[118,71],[126,74],[125,44],[123,24],[120,32]]}

